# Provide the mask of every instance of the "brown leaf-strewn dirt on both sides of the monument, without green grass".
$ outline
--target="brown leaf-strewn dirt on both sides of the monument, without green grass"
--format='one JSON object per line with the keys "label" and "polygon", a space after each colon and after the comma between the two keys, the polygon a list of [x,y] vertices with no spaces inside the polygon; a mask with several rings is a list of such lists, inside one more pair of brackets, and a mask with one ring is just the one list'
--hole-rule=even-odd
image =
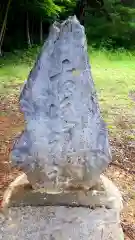
{"label": "brown leaf-strewn dirt on both sides of the monument, without green grass", "polygon": [[[17,100],[11,97],[10,101],[3,100],[0,105],[0,199],[8,184],[19,175],[19,171],[11,169],[9,153],[14,138],[22,131],[24,122],[19,113]],[[126,231],[125,239],[135,239],[135,148],[127,143],[112,139],[113,163],[106,171],[122,192],[124,211],[122,226]]]}

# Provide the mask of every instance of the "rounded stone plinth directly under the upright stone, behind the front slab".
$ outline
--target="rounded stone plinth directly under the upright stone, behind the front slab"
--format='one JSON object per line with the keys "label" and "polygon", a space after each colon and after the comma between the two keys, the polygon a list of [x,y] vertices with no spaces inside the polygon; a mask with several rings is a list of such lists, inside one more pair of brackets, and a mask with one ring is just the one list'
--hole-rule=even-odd
{"label": "rounded stone plinth directly under the upright stone, behind the front slab", "polygon": [[7,188],[3,197],[3,209],[12,206],[83,206],[89,208],[123,208],[122,196],[118,188],[107,177],[101,175],[100,181],[89,191],[80,190],[49,194],[47,191],[34,191],[26,174],[17,177]]}

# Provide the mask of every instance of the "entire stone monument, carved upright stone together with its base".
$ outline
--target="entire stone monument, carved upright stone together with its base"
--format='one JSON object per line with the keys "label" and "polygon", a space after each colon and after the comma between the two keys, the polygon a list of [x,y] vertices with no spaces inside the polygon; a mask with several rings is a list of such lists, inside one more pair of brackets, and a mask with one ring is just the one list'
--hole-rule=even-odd
{"label": "entire stone monument, carved upright stone together with its base", "polygon": [[54,23],[20,94],[25,130],[11,152],[24,174],[10,184],[0,239],[116,240],[122,199],[102,173],[111,161],[76,17]]}

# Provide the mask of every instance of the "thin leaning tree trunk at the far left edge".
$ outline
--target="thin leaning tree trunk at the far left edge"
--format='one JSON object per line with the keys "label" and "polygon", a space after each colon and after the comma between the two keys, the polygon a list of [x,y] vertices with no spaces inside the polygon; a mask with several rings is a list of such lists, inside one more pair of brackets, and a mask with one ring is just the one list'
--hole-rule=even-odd
{"label": "thin leaning tree trunk at the far left edge", "polygon": [[4,17],[2,28],[0,31],[0,56],[2,56],[2,44],[4,41],[5,32],[6,32],[7,16],[8,16],[10,4],[11,4],[11,0],[8,0],[5,17]]}

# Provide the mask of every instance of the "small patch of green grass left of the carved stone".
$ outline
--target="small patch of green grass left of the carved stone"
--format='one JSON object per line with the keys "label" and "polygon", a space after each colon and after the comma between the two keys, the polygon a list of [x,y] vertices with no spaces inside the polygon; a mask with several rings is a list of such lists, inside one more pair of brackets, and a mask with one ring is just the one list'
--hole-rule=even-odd
{"label": "small patch of green grass left of the carved stone", "polygon": [[39,47],[15,51],[0,58],[0,95],[13,93],[23,84],[36,59]]}

